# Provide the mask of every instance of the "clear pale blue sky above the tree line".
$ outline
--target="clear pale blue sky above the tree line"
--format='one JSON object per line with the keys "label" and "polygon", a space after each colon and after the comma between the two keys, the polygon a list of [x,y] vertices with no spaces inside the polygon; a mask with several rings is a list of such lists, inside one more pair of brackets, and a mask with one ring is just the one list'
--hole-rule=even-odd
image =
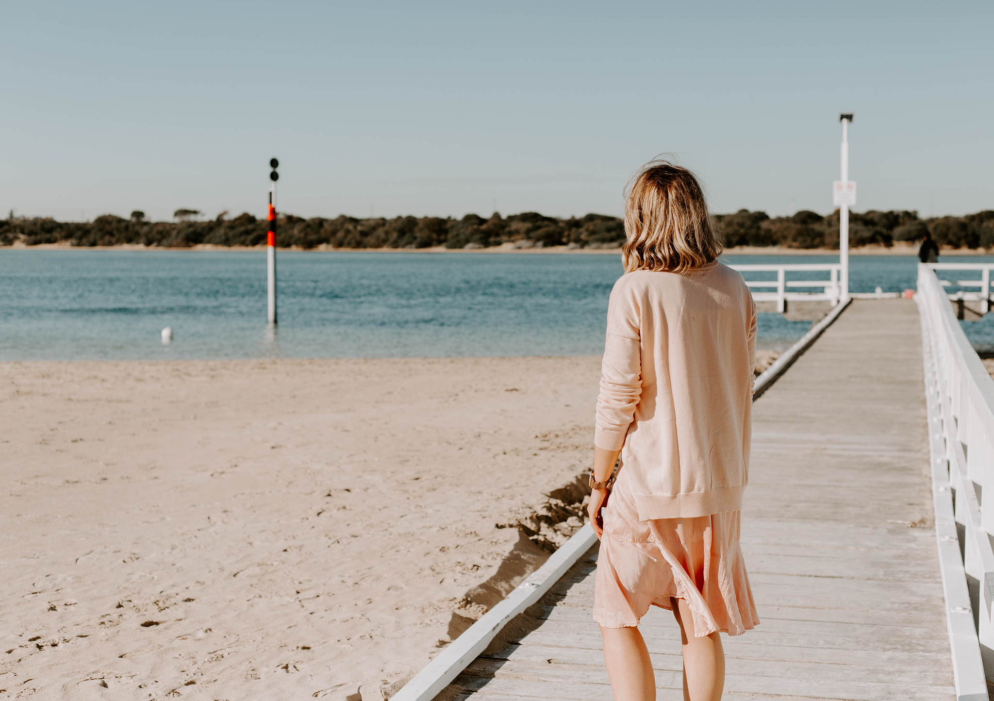
{"label": "clear pale blue sky above the tree line", "polygon": [[[7,3],[0,212],[620,214],[661,152],[716,212],[994,208],[994,3]],[[791,205],[792,203],[792,205]],[[3,216],[0,214],[0,216]]]}

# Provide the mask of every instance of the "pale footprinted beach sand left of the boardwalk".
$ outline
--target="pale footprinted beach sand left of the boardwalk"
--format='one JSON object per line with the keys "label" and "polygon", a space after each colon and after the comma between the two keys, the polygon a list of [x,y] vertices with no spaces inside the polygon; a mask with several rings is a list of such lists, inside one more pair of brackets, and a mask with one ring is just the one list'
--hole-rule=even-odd
{"label": "pale footprinted beach sand left of the boardwalk", "polygon": [[389,697],[580,527],[598,378],[0,364],[0,699]]}

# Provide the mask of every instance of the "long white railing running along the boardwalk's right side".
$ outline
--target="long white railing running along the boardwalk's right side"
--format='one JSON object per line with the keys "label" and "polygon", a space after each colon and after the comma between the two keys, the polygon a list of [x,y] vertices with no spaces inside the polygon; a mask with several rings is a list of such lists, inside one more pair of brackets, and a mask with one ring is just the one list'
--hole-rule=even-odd
{"label": "long white railing running along the boardwalk's right side", "polygon": [[[957,697],[987,699],[984,677],[994,680],[994,380],[933,267],[918,265],[914,299],[921,318],[935,534]],[[969,580],[976,583],[973,592]]]}

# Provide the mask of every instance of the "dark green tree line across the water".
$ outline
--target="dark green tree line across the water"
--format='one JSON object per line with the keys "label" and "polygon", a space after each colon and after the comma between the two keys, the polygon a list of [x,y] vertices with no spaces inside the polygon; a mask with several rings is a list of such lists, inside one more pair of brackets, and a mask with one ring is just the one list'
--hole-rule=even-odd
{"label": "dark green tree line across the water", "polygon": [[[182,214],[182,216],[180,216]],[[265,243],[267,223],[245,213],[229,218],[227,212],[214,220],[194,221],[194,210],[177,210],[176,222],[148,222],[144,214],[132,212],[130,219],[105,214],[92,222],[57,222],[51,218],[14,217],[0,220],[0,246],[27,246],[69,242],[72,246],[119,246],[140,244],[161,248],[189,248],[199,244],[216,246],[260,246]],[[790,217],[769,217],[765,212],[740,210],[714,216],[726,246],[782,246],[792,249],[838,249],[839,213],[827,217],[802,211]],[[588,214],[561,219],[535,212],[489,219],[468,214],[451,217],[396,217],[357,219],[304,219],[283,215],[278,222],[277,243],[282,247],[314,249],[473,249],[514,243],[518,246],[594,249],[616,248],[624,241],[624,225],[616,217]],[[994,211],[963,217],[921,219],[917,212],[850,213],[850,246],[896,241],[916,241],[930,233],[940,246],[968,249],[994,248]]]}

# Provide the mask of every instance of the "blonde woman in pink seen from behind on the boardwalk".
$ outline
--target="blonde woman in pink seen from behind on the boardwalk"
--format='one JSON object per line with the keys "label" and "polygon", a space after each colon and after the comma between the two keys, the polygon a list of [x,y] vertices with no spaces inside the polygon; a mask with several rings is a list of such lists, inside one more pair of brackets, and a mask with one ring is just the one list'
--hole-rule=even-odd
{"label": "blonde woman in pink seen from behind on the boardwalk", "polygon": [[593,617],[616,701],[656,698],[638,631],[650,606],[680,625],[684,699],[717,701],[719,633],[759,622],[739,548],[755,304],[742,275],[718,261],[704,193],[686,168],[657,160],[639,171],[624,223],[590,475]]}

